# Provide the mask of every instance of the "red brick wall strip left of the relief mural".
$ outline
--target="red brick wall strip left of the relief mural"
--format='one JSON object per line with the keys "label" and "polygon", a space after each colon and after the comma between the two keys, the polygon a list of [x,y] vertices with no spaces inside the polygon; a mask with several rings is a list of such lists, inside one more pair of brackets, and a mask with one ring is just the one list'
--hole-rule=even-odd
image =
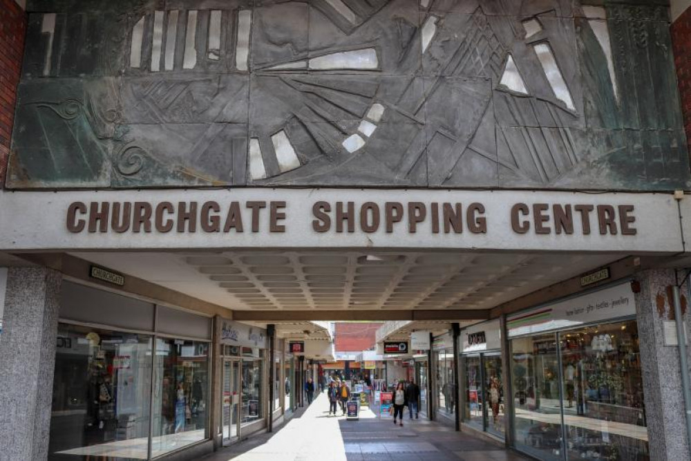
{"label": "red brick wall strip left of the relief mural", "polygon": [[26,14],[15,0],[0,0],[0,186],[10,153],[15,97],[26,32]]}

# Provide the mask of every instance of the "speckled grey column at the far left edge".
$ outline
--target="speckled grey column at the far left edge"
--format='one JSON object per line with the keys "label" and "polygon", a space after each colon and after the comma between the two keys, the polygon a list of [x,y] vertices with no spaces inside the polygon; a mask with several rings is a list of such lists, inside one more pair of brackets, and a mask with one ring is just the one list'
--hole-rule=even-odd
{"label": "speckled grey column at the far left edge", "polygon": [[0,460],[48,458],[62,276],[10,267],[0,336]]}

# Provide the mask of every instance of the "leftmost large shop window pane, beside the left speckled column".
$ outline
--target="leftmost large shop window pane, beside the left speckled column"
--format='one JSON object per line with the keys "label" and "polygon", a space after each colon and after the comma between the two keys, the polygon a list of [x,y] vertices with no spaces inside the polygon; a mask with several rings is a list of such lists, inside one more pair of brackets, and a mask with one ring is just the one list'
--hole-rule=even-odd
{"label": "leftmost large shop window pane, beside the left speckled column", "polygon": [[60,324],[48,459],[146,459],[150,395],[150,336]]}

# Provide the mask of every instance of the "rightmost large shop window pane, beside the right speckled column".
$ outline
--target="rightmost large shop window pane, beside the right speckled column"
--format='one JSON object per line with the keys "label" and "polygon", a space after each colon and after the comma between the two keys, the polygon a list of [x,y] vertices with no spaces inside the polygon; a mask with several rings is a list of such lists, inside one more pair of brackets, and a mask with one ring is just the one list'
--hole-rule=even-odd
{"label": "rightmost large shop window pane, beside the right speckled column", "polygon": [[648,459],[635,321],[560,333],[567,456]]}

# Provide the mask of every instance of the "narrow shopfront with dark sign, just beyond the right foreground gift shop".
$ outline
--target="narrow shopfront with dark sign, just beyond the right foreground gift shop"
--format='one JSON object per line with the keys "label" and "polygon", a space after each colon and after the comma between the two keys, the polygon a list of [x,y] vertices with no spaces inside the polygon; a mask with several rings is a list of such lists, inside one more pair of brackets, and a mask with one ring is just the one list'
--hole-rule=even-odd
{"label": "narrow shopfront with dark sign, just beyond the right foreground gift shop", "polygon": [[466,328],[462,337],[463,420],[504,438],[506,405],[499,321]]}

